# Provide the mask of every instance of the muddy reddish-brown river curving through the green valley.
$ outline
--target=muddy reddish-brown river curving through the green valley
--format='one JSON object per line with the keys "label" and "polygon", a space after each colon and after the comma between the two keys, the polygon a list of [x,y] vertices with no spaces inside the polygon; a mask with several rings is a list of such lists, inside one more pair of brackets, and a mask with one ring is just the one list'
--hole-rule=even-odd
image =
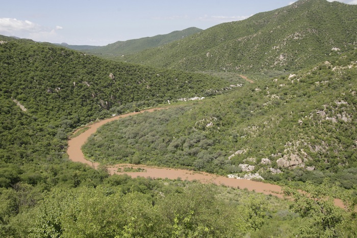
{"label": "muddy reddish-brown river curving through the green valley", "polygon": [[[120,118],[134,116],[144,112],[154,112],[157,110],[162,110],[163,108],[157,109],[149,109],[144,110],[141,112],[134,112],[129,114],[124,114],[116,117],[112,117],[109,119],[105,119],[103,121],[95,122],[91,125],[88,125],[86,131],[80,134],[77,137],[74,137],[68,141],[68,149],[67,153],[69,155],[69,159],[73,162],[80,162],[87,164],[91,167],[97,168],[99,165],[98,163],[93,163],[84,157],[84,154],[81,150],[83,144],[86,143],[87,139],[95,133],[97,128],[100,126],[114,120],[118,120]],[[133,167],[133,168],[142,168],[144,169],[143,172],[117,172],[118,168],[125,168],[125,167]],[[258,182],[258,181],[251,181],[247,179],[235,179],[235,178],[228,178],[224,176],[209,174],[205,172],[195,172],[183,169],[170,169],[170,168],[163,168],[163,167],[154,167],[154,166],[146,166],[146,165],[132,165],[132,164],[118,164],[108,168],[110,174],[127,174],[132,177],[151,177],[151,178],[168,178],[168,179],[177,179],[181,178],[182,180],[198,180],[200,182],[206,183],[215,183],[218,185],[224,185],[232,188],[239,188],[239,189],[247,189],[248,191],[255,191],[258,193],[263,194],[272,194],[274,196],[283,198],[282,187],[270,183],[265,182]],[[341,201],[337,200],[336,204],[340,207],[343,207]]]}

